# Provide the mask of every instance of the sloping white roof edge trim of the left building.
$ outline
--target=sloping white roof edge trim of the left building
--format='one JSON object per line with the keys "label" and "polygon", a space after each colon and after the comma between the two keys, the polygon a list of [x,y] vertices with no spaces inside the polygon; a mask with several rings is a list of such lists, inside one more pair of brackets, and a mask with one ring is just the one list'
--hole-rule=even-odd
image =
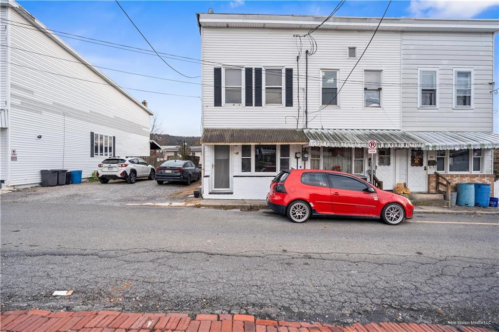
{"label": "sloping white roof edge trim of the left building", "polygon": [[[34,27],[38,28],[41,32],[46,32],[51,31],[48,27],[46,27],[42,22],[40,22],[38,19],[36,19],[33,15],[31,15],[26,9],[24,9],[20,4],[18,4],[14,0],[0,0],[0,5],[1,6],[7,6],[15,11],[17,11],[21,16],[23,16],[27,21],[29,21]],[[76,50],[74,50],[71,46],[69,46],[65,41],[63,41],[59,36],[53,33],[45,33],[45,35],[55,41],[60,47],[62,47],[64,50],[66,50],[68,53],[73,55],[75,58],[77,58],[79,61],[81,61],[85,66],[96,73],[98,76],[100,76],[104,81],[109,83],[111,86],[113,86],[116,90],[121,92],[125,97],[129,98],[131,101],[136,103],[140,108],[142,108],[144,111],[149,113],[150,115],[153,115],[154,113],[148,109],[145,105],[143,105],[141,102],[139,102],[137,99],[132,97],[128,92],[126,92],[123,88],[121,88],[118,84],[116,84],[113,80],[111,80],[109,77],[107,77],[104,73],[102,73],[100,70],[97,68],[93,67],[92,64],[90,64],[85,58],[83,58]]]}

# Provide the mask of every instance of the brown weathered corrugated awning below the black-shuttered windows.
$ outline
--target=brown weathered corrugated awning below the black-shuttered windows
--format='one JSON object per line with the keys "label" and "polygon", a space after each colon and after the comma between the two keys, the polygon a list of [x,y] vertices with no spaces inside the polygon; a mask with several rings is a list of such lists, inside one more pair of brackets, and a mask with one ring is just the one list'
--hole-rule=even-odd
{"label": "brown weathered corrugated awning below the black-shuttered windows", "polygon": [[296,129],[235,129],[205,128],[203,144],[308,144],[302,130]]}

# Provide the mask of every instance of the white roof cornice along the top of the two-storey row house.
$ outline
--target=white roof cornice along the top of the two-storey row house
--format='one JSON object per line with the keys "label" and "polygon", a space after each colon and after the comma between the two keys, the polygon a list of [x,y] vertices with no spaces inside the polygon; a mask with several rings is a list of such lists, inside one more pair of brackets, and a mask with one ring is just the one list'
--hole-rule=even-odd
{"label": "white roof cornice along the top of the two-storey row house", "polygon": [[[311,29],[327,16],[197,13],[198,25],[203,27],[243,27]],[[320,30],[374,30],[380,17],[333,16]],[[445,31],[445,32],[496,32],[497,19],[449,19],[385,17],[379,30],[385,31]]]}

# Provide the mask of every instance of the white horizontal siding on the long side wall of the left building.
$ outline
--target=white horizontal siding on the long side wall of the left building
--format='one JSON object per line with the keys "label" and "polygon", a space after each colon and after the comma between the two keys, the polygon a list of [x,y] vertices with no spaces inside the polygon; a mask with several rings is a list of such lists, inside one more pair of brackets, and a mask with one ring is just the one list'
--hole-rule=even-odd
{"label": "white horizontal siding on the long side wall of the left building", "polygon": [[[11,19],[28,23],[15,10]],[[10,44],[51,56],[77,60],[38,30],[10,27]],[[40,182],[40,169],[82,169],[90,175],[104,157],[90,157],[90,132],[116,137],[116,155],[149,155],[149,114],[117,89],[23,68],[106,83],[85,65],[10,50],[9,185]],[[41,135],[41,139],[37,136]]]}

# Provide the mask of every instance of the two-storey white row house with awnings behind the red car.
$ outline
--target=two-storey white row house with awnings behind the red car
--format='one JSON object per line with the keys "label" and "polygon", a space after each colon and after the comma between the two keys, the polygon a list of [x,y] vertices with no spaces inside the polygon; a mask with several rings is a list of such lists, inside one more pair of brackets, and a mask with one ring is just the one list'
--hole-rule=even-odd
{"label": "two-storey white row house with awnings behind the red car", "polygon": [[[493,183],[497,20],[200,13],[203,196],[264,199],[289,167],[435,192]],[[497,70],[497,68],[496,68]],[[381,183],[382,182],[382,183]]]}

